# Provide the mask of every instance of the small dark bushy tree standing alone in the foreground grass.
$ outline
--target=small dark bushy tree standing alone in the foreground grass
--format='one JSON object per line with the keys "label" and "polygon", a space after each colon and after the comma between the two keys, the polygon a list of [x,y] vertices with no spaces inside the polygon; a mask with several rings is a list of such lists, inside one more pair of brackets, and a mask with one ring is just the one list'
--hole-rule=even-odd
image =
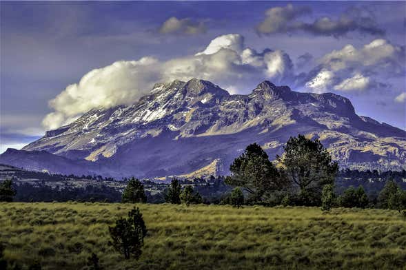
{"label": "small dark bushy tree standing alone in the foreground grass", "polygon": [[110,245],[124,255],[125,259],[134,256],[136,260],[141,256],[141,248],[144,245],[144,238],[147,229],[139,208],[128,212],[128,218],[119,218],[114,227],[109,226],[112,242]]}

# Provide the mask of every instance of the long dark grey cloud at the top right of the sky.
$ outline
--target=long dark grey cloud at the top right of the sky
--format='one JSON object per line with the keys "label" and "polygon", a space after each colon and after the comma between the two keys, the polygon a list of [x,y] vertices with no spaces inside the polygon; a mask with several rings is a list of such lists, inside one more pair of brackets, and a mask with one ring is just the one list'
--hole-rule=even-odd
{"label": "long dark grey cloud at the top right of the sky", "polygon": [[299,17],[311,14],[307,7],[296,7],[288,4],[285,7],[270,8],[265,12],[265,19],[257,26],[259,34],[276,34],[303,31],[314,35],[341,37],[348,32],[383,35],[385,31],[378,27],[374,14],[367,8],[352,7],[338,19],[320,17],[312,23],[298,21]]}

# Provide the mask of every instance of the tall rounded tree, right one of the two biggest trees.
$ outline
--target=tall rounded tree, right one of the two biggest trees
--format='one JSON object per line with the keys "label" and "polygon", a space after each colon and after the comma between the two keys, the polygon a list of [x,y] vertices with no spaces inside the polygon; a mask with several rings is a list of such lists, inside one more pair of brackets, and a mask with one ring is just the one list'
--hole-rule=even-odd
{"label": "tall rounded tree, right one of the two biggest trees", "polygon": [[299,134],[290,137],[283,149],[283,155],[276,156],[283,174],[304,202],[317,204],[323,187],[334,184],[338,164],[317,138],[312,141]]}

